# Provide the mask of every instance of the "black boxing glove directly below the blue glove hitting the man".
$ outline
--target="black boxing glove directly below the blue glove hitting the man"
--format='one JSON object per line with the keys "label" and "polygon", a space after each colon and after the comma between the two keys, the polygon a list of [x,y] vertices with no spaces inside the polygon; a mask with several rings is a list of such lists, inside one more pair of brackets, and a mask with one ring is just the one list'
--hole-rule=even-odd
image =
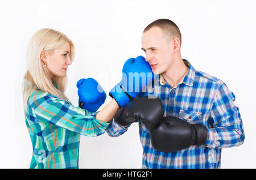
{"label": "black boxing glove directly below the blue glove hitting the man", "polygon": [[133,122],[142,122],[147,128],[154,128],[163,118],[162,101],[156,96],[137,96],[125,107],[118,110],[114,121],[127,126]]}

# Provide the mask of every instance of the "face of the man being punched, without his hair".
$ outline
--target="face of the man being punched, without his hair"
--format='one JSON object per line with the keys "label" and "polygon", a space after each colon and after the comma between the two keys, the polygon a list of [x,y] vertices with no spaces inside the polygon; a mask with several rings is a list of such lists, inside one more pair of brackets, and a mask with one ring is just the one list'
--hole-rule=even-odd
{"label": "face of the man being punched, without his hair", "polygon": [[152,27],[142,34],[142,50],[154,74],[162,74],[172,65],[174,53],[172,41],[159,27]]}

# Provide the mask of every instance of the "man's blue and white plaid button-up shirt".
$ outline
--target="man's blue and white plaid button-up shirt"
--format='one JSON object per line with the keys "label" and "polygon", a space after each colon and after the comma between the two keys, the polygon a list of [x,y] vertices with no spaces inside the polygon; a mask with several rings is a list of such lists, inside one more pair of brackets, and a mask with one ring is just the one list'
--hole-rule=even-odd
{"label": "man's blue and white plaid button-up shirt", "polygon": [[[187,60],[183,61],[189,68],[177,87],[172,88],[159,75],[140,96],[158,96],[163,103],[164,116],[206,126],[207,142],[176,152],[156,151],[151,145],[149,130],[139,122],[142,168],[220,168],[221,149],[241,145],[245,139],[239,109],[234,105],[234,94],[220,79],[197,71]],[[119,136],[128,127],[112,121],[106,132],[109,136]]]}

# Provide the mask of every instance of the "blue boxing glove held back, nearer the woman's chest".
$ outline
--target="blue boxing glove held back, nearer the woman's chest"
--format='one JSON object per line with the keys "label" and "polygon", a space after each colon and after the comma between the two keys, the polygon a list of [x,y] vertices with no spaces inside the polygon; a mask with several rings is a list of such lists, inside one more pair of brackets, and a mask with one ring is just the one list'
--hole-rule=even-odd
{"label": "blue boxing glove held back, nearer the woman's chest", "polygon": [[79,107],[89,112],[96,112],[106,100],[106,93],[93,78],[80,79],[76,83],[79,95]]}

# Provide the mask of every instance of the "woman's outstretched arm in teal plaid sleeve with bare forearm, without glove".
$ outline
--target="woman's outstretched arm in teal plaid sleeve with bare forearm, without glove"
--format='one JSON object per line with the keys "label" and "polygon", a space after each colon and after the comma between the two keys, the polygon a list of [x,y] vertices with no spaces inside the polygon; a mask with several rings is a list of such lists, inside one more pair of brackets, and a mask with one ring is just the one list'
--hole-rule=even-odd
{"label": "woman's outstretched arm in teal plaid sleeve with bare forearm, without glove", "polygon": [[[28,112],[26,114],[27,119],[31,121],[31,129],[42,131],[42,127],[51,123],[81,135],[98,136],[103,134],[109,126],[109,123],[105,121],[110,121],[117,111],[114,109],[118,109],[118,105],[115,106],[114,102],[109,104],[101,113],[89,112],[69,104],[68,101],[37,90],[28,99]],[[96,119],[97,113],[100,113],[99,118],[104,121]]]}

